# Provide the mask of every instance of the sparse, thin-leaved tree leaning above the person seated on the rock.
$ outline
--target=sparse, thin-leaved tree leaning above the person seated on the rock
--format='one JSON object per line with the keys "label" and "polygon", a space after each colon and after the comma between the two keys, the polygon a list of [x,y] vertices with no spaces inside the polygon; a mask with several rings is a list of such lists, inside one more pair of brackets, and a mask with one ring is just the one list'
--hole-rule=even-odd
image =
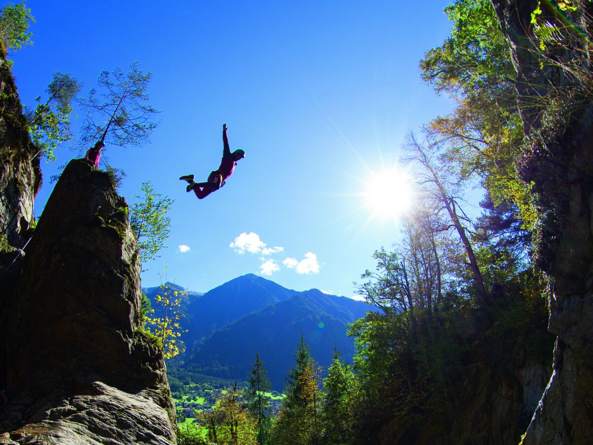
{"label": "sparse, thin-leaved tree leaning above the person seated on the rock", "polygon": [[125,147],[141,147],[157,126],[158,113],[148,101],[146,88],[152,75],[142,74],[138,62],[130,64],[126,74],[120,68],[103,71],[97,88],[91,88],[88,98],[79,100],[85,112],[81,146],[95,141]]}

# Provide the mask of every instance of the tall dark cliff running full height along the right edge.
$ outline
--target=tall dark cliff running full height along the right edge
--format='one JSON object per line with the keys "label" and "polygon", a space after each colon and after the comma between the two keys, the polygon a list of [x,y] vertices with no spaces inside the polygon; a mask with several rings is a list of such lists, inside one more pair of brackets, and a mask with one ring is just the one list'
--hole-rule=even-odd
{"label": "tall dark cliff running full height along the right edge", "polygon": [[[555,94],[569,76],[558,68],[540,69],[538,41],[531,30],[534,0],[493,0],[517,69],[519,107],[534,152],[519,173],[540,197],[541,243],[538,259],[551,277],[549,329],[557,335],[553,374],[523,444],[584,444],[593,436],[593,109],[578,82],[570,94],[583,94],[588,106],[572,113],[563,131],[548,131],[533,103],[525,98]],[[544,5],[544,2],[542,2]],[[588,54],[593,5],[576,1],[570,20],[582,42],[554,55],[562,62]],[[556,23],[557,13],[542,6],[542,20]],[[569,23],[568,21],[566,23]],[[534,50],[535,49],[535,50]],[[588,56],[586,56],[588,57]],[[560,63],[562,64],[562,63]],[[591,63],[582,64],[590,82]],[[589,85],[584,85],[589,88]],[[586,98],[586,101],[584,100]],[[543,135],[538,141],[532,136]]]}

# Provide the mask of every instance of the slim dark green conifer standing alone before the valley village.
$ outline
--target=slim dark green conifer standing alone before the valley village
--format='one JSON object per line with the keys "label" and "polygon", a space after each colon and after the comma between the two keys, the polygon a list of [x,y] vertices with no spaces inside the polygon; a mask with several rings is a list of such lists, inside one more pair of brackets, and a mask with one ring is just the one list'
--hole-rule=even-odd
{"label": "slim dark green conifer standing alone before the valley village", "polygon": [[256,361],[253,369],[248,374],[249,387],[245,391],[245,398],[249,411],[256,418],[257,443],[264,445],[269,443],[270,428],[270,398],[265,395],[272,387],[267,378],[266,367],[256,352]]}

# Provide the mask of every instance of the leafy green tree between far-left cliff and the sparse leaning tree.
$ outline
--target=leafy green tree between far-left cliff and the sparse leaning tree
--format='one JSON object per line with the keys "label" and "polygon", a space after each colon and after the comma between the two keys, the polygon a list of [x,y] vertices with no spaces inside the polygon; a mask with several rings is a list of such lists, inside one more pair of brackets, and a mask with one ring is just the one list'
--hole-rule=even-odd
{"label": "leafy green tree between far-left cliff and the sparse leaning tree", "polygon": [[52,82],[47,86],[47,100],[41,103],[39,96],[36,98],[35,110],[25,110],[31,140],[39,149],[37,154],[45,156],[48,161],[56,160],[54,151],[59,144],[72,139],[72,101],[81,87],[82,83],[70,74],[55,72]]}

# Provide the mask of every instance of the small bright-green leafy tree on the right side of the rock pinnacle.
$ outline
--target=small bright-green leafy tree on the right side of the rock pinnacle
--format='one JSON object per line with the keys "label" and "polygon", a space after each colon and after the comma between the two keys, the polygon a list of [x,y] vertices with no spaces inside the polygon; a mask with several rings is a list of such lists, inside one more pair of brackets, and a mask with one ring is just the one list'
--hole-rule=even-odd
{"label": "small bright-green leafy tree on the right side of the rock pinnacle", "polygon": [[133,196],[137,201],[130,206],[130,225],[138,239],[142,260],[148,261],[165,246],[171,231],[167,211],[175,200],[155,192],[150,181],[143,182],[140,188],[144,195]]}

